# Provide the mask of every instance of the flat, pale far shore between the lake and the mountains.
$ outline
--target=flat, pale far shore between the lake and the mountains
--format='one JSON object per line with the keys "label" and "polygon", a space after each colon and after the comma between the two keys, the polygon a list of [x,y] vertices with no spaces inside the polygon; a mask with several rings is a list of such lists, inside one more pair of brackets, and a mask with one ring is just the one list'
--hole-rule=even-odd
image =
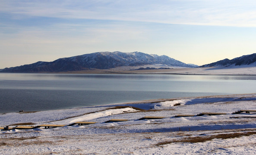
{"label": "flat, pale far shore between the lake and the mountains", "polygon": [[[237,68],[170,68],[170,69],[152,69],[152,70],[134,70],[137,67],[117,67],[111,69],[90,69],[83,71],[66,72],[28,72],[28,73],[47,73],[47,74],[177,74],[177,75],[256,75],[256,67],[237,67]],[[1,73],[1,72],[0,72]]]}

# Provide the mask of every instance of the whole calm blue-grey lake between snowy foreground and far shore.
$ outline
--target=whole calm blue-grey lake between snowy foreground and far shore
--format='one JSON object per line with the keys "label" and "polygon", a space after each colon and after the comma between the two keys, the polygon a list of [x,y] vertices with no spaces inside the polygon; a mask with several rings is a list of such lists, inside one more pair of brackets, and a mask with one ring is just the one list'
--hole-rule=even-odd
{"label": "whole calm blue-grey lake between snowy foreground and far shore", "polygon": [[0,113],[256,93],[256,76],[0,73]]}

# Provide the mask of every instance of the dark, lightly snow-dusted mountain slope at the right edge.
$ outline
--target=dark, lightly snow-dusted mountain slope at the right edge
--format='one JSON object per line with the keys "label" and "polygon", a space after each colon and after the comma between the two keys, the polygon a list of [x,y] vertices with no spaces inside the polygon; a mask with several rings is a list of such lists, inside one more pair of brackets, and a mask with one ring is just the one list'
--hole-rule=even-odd
{"label": "dark, lightly snow-dusted mountain slope at the right edge", "polygon": [[223,59],[210,64],[202,65],[200,67],[228,67],[228,66],[243,66],[251,65],[256,66],[256,53],[240,56],[234,59]]}

